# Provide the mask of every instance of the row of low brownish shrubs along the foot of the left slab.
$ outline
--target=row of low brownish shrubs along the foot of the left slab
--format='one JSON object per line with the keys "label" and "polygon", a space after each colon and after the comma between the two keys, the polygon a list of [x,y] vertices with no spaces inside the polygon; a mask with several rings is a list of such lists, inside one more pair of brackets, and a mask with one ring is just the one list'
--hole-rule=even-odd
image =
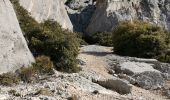
{"label": "row of low brownish shrubs along the foot of the left slab", "polygon": [[5,73],[0,75],[0,85],[12,86],[20,81],[26,83],[36,82],[40,75],[54,74],[54,66],[49,57],[39,56],[36,58],[36,63],[30,67],[22,67],[15,73]]}

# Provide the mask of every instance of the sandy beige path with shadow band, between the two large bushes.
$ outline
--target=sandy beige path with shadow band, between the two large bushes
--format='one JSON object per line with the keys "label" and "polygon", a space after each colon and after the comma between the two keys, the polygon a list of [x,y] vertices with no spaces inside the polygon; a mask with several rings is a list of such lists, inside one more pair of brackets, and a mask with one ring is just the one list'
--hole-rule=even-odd
{"label": "sandy beige path with shadow band, between the two large bushes", "polygon": [[[81,49],[79,54],[79,59],[84,61],[86,65],[83,66],[84,71],[95,71],[96,73],[102,75],[103,77],[112,78],[113,76],[108,74],[106,66],[108,63],[104,60],[105,55],[112,53],[111,47],[99,47],[93,48],[93,50]],[[96,51],[95,51],[96,49]],[[100,50],[99,50],[100,49]],[[99,51],[98,51],[99,50]]]}

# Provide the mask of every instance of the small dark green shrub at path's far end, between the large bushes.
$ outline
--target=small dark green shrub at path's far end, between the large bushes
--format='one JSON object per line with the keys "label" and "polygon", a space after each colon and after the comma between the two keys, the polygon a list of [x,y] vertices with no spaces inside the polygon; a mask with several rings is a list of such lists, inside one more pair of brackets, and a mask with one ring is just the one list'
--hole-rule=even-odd
{"label": "small dark green shrub at path's far end, between the large bushes", "polygon": [[95,33],[92,35],[92,39],[96,44],[102,46],[113,46],[111,32]]}

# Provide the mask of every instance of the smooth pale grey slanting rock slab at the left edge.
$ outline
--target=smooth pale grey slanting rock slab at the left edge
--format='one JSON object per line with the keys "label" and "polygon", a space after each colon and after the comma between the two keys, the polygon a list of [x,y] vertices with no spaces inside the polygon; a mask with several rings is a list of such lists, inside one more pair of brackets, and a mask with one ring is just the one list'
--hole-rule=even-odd
{"label": "smooth pale grey slanting rock slab at the left edge", "polygon": [[0,74],[28,66],[34,58],[9,0],[0,0]]}

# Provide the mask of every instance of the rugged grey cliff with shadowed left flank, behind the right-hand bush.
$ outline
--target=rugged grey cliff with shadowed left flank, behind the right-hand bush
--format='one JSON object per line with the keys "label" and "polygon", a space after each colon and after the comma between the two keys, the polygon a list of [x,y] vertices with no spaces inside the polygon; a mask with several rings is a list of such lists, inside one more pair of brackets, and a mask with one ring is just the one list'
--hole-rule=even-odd
{"label": "rugged grey cliff with shadowed left flank, behind the right-hand bush", "polygon": [[170,31],[169,0],[97,0],[87,34],[111,31],[119,21],[140,19]]}

